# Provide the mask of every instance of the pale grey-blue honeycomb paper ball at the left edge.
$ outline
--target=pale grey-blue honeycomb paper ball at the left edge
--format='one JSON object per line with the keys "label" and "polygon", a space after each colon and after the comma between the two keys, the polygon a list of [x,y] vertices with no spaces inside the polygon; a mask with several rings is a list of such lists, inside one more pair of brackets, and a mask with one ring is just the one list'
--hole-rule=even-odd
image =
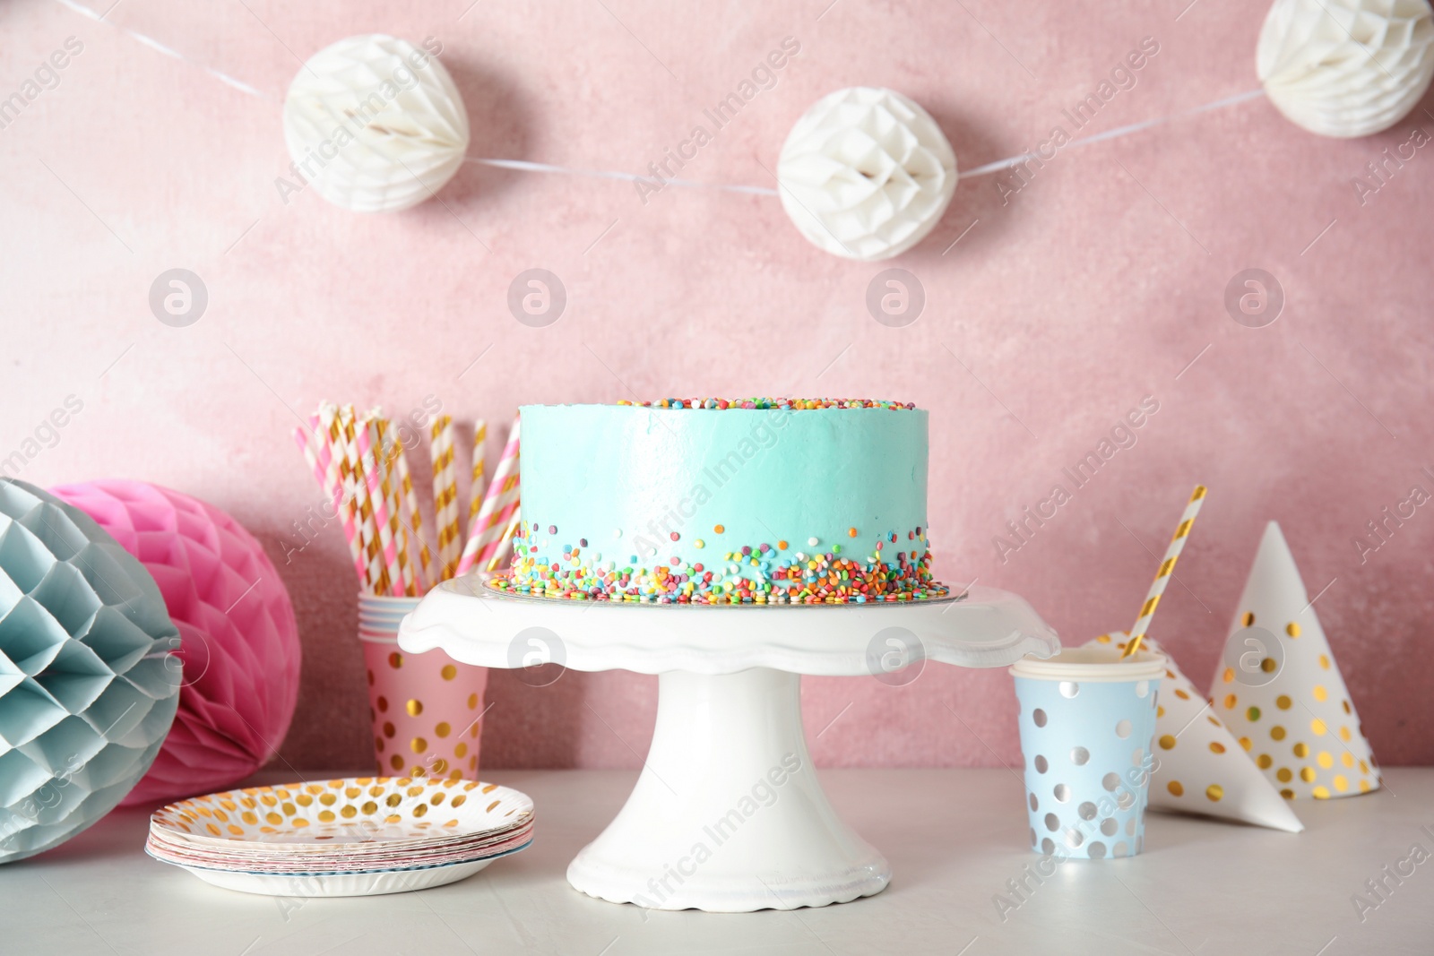
{"label": "pale grey-blue honeycomb paper ball at the left edge", "polygon": [[69,840],[149,770],[178,646],[159,588],[105,529],[0,479],[0,863]]}

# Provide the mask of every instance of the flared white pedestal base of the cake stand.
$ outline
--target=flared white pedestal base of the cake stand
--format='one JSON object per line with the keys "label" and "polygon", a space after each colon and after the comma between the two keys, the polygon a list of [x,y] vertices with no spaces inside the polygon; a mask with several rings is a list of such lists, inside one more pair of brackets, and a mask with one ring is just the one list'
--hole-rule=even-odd
{"label": "flared white pedestal base of the cake stand", "polygon": [[845,903],[891,866],[832,810],[802,730],[800,677],[670,671],[632,795],[568,867],[578,890],[648,909]]}

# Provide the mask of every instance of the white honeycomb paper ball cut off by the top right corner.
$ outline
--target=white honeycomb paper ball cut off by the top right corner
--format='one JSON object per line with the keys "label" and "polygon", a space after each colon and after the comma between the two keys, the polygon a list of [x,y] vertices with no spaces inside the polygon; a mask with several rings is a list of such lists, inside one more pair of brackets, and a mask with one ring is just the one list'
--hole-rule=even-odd
{"label": "white honeycomb paper ball cut off by the top right corner", "polygon": [[1428,0],[1275,0],[1255,69],[1271,102],[1321,136],[1400,122],[1434,76]]}

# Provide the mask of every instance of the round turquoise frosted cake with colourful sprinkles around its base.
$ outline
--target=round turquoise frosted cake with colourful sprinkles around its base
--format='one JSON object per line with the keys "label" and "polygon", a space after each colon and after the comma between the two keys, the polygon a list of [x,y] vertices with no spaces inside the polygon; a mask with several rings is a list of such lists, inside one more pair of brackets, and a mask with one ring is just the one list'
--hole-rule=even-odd
{"label": "round turquoise frosted cake with colourful sprinkles around its base", "polygon": [[866,400],[523,406],[505,591],[658,603],[921,601],[926,413]]}

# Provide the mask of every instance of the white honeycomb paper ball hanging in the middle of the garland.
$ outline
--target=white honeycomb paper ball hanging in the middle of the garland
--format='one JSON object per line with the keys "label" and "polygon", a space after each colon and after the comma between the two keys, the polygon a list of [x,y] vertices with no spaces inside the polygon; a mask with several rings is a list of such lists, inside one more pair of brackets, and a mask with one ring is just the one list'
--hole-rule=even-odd
{"label": "white honeycomb paper ball hanging in the middle of the garland", "polygon": [[853,86],[817,100],[777,161],[782,205],[813,245],[872,262],[926,238],[956,189],[936,120],[895,90]]}

